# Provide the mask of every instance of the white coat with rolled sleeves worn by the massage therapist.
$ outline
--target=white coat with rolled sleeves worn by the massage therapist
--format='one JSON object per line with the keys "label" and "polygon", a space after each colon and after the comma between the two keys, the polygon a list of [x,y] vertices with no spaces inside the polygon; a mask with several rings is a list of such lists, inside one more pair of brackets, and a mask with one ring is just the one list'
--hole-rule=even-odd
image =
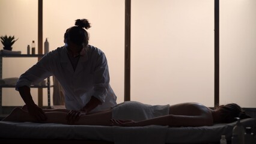
{"label": "white coat with rolled sleeves worn by the massage therapist", "polygon": [[78,61],[76,70],[67,55],[66,47],[58,47],[47,53],[37,64],[23,73],[16,84],[16,90],[20,86],[30,86],[49,76],[55,76],[64,89],[66,109],[80,110],[91,96],[102,102],[93,111],[109,109],[114,106],[117,97],[109,85],[108,62],[102,50],[94,46],[88,46],[85,55]]}

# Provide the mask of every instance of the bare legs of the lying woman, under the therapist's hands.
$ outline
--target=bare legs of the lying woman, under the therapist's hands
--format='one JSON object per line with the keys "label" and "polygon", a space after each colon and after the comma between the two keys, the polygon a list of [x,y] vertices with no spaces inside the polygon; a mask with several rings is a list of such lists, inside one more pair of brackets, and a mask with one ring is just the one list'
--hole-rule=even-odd
{"label": "bare legs of the lying woman, under the therapist's hands", "polygon": [[[66,112],[46,112],[47,116],[46,123],[60,123],[68,124],[66,119]],[[78,121],[73,124],[77,125],[111,125],[112,113],[111,110],[103,111],[91,115],[82,115]],[[2,119],[2,121],[16,121],[16,122],[38,122],[34,117],[29,115],[25,110],[16,107],[10,115]]]}

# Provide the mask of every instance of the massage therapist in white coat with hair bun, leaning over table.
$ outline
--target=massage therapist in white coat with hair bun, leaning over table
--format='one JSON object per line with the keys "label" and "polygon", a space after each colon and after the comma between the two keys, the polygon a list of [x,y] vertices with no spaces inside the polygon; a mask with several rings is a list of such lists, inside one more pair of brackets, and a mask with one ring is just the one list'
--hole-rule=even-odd
{"label": "massage therapist in white coat with hair bun, leaning over table", "polygon": [[[61,23],[59,23],[61,25]],[[55,76],[64,89],[67,119],[78,119],[81,113],[109,109],[117,97],[109,85],[109,69],[105,53],[88,44],[90,28],[87,19],[78,19],[64,34],[65,46],[47,53],[23,73],[16,84],[28,113],[37,121],[47,115],[32,100],[30,85]]]}

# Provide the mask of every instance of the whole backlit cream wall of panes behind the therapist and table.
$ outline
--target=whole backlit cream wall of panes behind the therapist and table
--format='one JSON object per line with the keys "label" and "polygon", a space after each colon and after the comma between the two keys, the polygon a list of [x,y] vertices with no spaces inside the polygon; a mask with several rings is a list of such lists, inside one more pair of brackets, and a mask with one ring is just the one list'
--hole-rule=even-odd
{"label": "whole backlit cream wall of panes behind the therapist and table", "polygon": [[[124,0],[43,2],[43,38],[49,37],[50,50],[63,45],[64,31],[75,19],[90,20],[90,44],[106,53],[111,85],[118,103],[123,101]],[[255,2],[220,2],[221,104],[256,107]],[[151,104],[198,101],[213,106],[213,4],[213,0],[132,1],[131,100]],[[0,35],[19,38],[13,50],[26,53],[27,44],[37,43],[37,1],[0,0],[0,17]],[[3,77],[19,76],[34,64],[16,60],[4,59]],[[13,89],[3,93],[4,106],[23,104]]]}

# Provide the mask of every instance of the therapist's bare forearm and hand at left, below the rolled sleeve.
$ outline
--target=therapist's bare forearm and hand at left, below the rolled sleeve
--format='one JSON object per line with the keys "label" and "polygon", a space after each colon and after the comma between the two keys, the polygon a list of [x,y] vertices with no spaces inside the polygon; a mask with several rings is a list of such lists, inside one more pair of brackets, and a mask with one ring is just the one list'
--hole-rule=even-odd
{"label": "therapist's bare forearm and hand at left, below the rolled sleeve", "polygon": [[20,96],[22,97],[23,101],[25,102],[28,112],[30,115],[34,116],[38,121],[45,121],[46,115],[43,112],[43,109],[37,106],[37,104],[34,103],[30,88],[28,86],[20,86],[18,88]]}

